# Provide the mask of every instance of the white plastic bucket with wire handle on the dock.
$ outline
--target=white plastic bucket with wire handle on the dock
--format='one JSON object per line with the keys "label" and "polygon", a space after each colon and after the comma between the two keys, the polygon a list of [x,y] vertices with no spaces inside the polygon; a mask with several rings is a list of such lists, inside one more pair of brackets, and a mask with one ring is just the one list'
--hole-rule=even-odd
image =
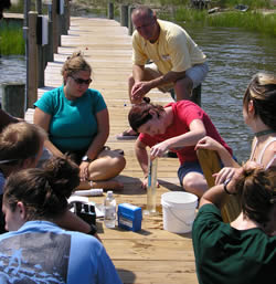
{"label": "white plastic bucket with wire handle on the dock", "polygon": [[195,194],[172,191],[161,196],[163,229],[172,233],[188,233],[195,218],[198,197]]}

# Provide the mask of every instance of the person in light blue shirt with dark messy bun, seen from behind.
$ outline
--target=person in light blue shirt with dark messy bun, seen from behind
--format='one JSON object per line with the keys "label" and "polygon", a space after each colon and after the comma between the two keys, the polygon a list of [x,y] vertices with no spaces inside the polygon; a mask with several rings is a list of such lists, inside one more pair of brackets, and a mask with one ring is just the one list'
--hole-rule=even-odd
{"label": "person in light blue shirt with dark messy bun, seen from behind", "polygon": [[10,232],[0,235],[4,283],[121,283],[99,241],[56,224],[79,183],[78,173],[68,158],[52,157],[42,169],[10,175],[3,194]]}

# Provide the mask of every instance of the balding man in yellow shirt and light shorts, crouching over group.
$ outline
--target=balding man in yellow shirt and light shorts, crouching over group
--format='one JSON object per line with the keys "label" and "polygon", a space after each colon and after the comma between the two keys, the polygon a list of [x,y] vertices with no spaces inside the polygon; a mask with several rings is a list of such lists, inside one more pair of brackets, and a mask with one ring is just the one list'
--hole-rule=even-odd
{"label": "balding man in yellow shirt and light shorts, crouching over group", "polygon": [[[179,25],[158,20],[148,7],[138,7],[131,14],[132,74],[128,81],[129,99],[139,104],[155,87],[161,92],[174,90],[176,101],[191,99],[192,90],[208,73],[206,56]],[[148,62],[152,62],[147,64]],[[137,136],[132,129],[118,138]]]}

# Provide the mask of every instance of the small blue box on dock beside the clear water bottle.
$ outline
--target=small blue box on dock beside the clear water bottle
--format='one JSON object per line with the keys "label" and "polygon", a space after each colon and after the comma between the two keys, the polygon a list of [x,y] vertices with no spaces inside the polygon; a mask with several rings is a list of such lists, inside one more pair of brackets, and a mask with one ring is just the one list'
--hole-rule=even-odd
{"label": "small blue box on dock beside the clear water bottle", "polygon": [[128,231],[140,231],[141,219],[141,208],[129,203],[118,206],[118,227]]}

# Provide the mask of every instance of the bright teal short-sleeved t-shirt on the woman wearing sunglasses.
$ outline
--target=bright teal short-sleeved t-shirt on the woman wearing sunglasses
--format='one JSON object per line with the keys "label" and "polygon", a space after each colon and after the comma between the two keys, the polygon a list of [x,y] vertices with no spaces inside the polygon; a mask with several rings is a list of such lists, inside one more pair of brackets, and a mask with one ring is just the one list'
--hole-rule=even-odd
{"label": "bright teal short-sleeved t-shirt on the woman wearing sunglasses", "polygon": [[52,116],[49,138],[61,151],[85,151],[97,134],[96,114],[106,108],[105,101],[92,88],[68,101],[63,87],[44,93],[34,106]]}

